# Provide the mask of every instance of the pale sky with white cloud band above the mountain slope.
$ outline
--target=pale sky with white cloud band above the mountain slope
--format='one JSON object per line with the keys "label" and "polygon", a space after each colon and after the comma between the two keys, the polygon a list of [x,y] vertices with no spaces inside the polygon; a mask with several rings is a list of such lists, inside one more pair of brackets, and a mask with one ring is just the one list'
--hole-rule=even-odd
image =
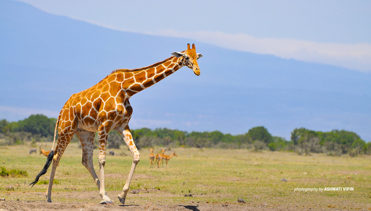
{"label": "pale sky with white cloud band above the mountain slope", "polygon": [[371,72],[371,1],[22,2],[111,29]]}

